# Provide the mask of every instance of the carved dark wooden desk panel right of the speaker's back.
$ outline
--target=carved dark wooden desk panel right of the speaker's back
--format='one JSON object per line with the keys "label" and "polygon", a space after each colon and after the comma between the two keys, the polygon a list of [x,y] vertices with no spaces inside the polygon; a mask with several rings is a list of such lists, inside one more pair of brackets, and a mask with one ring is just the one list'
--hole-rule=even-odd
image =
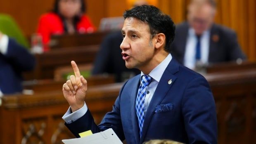
{"label": "carved dark wooden desk panel right of the speaker's back", "polygon": [[206,75],[216,103],[219,144],[256,144],[256,68]]}

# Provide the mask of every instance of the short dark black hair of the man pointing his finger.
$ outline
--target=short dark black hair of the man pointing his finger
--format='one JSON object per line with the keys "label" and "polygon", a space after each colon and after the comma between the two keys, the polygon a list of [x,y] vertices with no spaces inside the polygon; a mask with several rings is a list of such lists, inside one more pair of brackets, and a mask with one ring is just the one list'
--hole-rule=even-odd
{"label": "short dark black hair of the man pointing his finger", "polygon": [[126,10],[123,13],[124,19],[134,17],[149,25],[151,39],[157,33],[164,33],[166,44],[164,50],[171,52],[171,43],[175,36],[175,24],[170,16],[161,12],[160,9],[153,5],[141,5],[132,9]]}

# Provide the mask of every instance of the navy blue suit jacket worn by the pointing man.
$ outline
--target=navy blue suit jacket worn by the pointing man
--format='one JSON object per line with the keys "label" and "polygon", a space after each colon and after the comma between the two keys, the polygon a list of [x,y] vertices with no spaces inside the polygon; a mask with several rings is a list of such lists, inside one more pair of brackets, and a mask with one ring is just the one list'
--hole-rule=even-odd
{"label": "navy blue suit jacket worn by the pointing man", "polygon": [[[171,84],[168,81],[172,80]],[[112,128],[128,144],[142,144],[150,139],[172,139],[190,144],[216,144],[217,120],[213,95],[206,79],[172,59],[164,71],[145,114],[142,137],[139,136],[135,99],[140,75],[128,80],[100,125],[95,125],[90,111],[66,126],[76,137]],[[173,109],[156,113],[159,104]]]}

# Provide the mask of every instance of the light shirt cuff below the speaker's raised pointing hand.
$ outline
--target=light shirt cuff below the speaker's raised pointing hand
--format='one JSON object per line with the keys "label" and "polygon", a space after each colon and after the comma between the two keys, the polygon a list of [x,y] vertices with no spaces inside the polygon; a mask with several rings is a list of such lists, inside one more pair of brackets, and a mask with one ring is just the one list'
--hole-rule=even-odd
{"label": "light shirt cuff below the speaker's raised pointing hand", "polygon": [[62,116],[62,119],[65,120],[67,124],[69,124],[81,118],[83,115],[85,115],[87,111],[88,111],[88,107],[86,104],[84,104],[81,109],[78,109],[73,113],[71,111],[71,107],[69,106],[68,111],[66,111],[64,116]]}

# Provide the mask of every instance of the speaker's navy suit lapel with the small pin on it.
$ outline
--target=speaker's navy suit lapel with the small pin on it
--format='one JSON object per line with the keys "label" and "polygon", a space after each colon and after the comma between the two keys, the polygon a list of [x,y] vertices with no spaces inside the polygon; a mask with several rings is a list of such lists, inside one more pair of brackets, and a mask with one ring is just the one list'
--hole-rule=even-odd
{"label": "speaker's navy suit lapel with the small pin on it", "polygon": [[[149,123],[152,119],[152,116],[154,115],[156,106],[161,103],[161,101],[164,99],[164,97],[170,90],[171,86],[175,82],[176,76],[174,76],[173,74],[178,72],[178,69],[179,69],[178,62],[174,58],[172,58],[171,62],[168,64],[166,70],[164,71],[164,73],[156,87],[156,91],[154,92],[152,100],[151,100],[151,102],[148,106],[147,112],[145,114],[145,120],[143,123],[140,144],[144,141],[145,135],[146,135],[148,127],[149,127]],[[171,84],[168,84],[169,80],[172,80]]]}

